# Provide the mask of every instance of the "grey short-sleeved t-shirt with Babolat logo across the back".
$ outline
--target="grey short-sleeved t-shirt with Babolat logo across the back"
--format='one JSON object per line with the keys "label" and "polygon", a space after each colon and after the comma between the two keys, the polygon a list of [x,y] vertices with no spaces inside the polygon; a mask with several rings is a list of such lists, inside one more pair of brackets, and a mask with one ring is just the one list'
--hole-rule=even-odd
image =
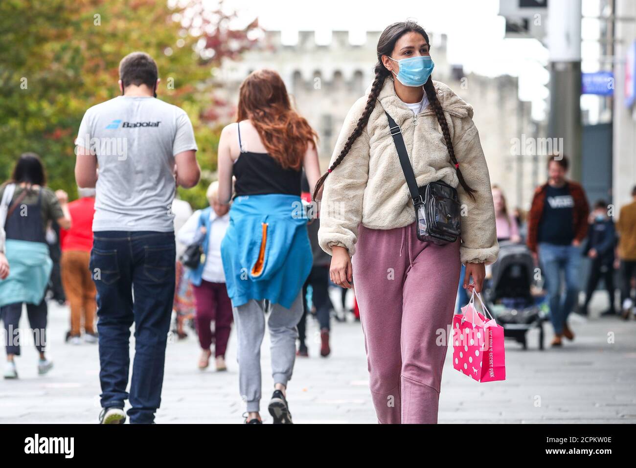
{"label": "grey short-sleeved t-shirt with Babolat logo across the back", "polygon": [[86,111],[77,144],[99,165],[93,231],[173,230],[175,156],[197,151],[183,109],[152,96],[118,96]]}

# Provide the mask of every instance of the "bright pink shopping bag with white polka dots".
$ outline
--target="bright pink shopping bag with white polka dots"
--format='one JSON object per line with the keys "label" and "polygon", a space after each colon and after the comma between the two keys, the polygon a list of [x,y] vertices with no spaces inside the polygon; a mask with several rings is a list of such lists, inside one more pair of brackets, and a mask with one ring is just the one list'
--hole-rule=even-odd
{"label": "bright pink shopping bag with white polka dots", "polygon": [[[474,298],[481,302],[490,320],[474,308]],[[477,382],[506,380],[504,362],[504,328],[473,291],[471,300],[453,316],[453,368]]]}

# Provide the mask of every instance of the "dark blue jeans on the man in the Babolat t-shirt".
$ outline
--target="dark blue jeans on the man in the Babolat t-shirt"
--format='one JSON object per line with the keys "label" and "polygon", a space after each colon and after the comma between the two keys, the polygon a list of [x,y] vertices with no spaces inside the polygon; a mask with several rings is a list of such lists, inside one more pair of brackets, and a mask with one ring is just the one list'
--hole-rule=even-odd
{"label": "dark blue jeans on the man in the Babolat t-shirt", "polygon": [[[175,256],[173,232],[94,233],[90,270],[97,287],[101,403],[123,408],[130,399],[131,423],[152,423],[161,402]],[[133,322],[135,360],[128,396]]]}

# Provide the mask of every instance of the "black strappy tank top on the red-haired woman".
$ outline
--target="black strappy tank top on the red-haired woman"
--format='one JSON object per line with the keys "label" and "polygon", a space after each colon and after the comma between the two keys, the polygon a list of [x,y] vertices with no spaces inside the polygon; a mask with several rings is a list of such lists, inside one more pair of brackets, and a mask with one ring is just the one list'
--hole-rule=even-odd
{"label": "black strappy tank top on the red-haired woman", "polygon": [[280,163],[268,153],[243,151],[239,134],[239,158],[234,163],[234,176],[237,178],[234,189],[236,196],[267,195],[282,193],[300,196],[301,169],[283,169]]}

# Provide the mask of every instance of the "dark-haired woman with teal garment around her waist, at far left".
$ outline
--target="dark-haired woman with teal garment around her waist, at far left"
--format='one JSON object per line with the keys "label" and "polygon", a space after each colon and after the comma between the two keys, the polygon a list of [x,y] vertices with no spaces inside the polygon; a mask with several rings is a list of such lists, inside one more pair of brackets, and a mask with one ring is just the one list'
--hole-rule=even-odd
{"label": "dark-haired woman with teal garment around her waist, at far left", "polygon": [[19,322],[22,304],[26,304],[33,340],[39,352],[38,374],[53,367],[46,358],[46,286],[53,262],[46,244],[46,227],[57,221],[61,228],[71,227],[71,215],[65,191],[46,187],[44,165],[35,153],[24,153],[13,168],[11,180],[0,186],[6,258],[10,273],[0,280],[0,317],[4,322],[6,367],[4,378],[18,378],[15,356],[20,355]]}

